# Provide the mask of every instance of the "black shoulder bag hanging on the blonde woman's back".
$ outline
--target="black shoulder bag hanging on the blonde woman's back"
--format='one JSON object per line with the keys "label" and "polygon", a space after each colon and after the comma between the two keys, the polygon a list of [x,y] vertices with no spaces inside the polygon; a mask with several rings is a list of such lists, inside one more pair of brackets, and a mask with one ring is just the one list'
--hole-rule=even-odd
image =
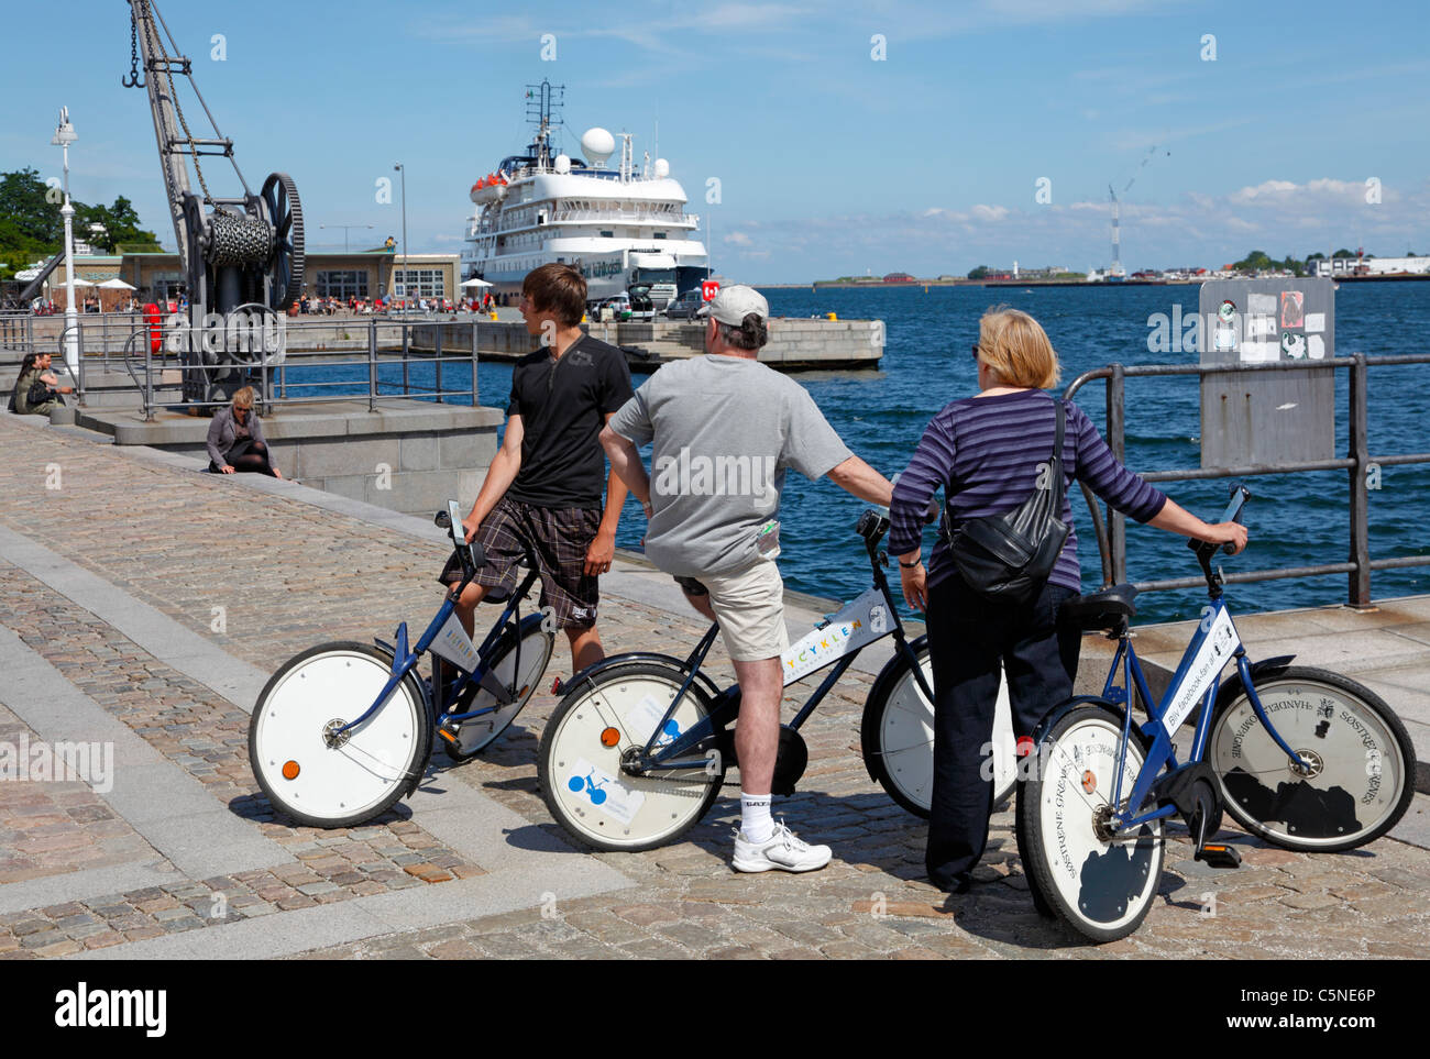
{"label": "black shoulder bag hanging on the blonde woman's back", "polygon": [[[1061,520],[1062,497],[1062,400],[1057,406],[1057,434],[1052,442],[1051,480],[1034,484],[1032,496],[1011,512],[968,519],[948,535],[948,552],[964,582],[994,602],[1025,605],[1037,599],[1047,583],[1071,529]],[[945,509],[947,513],[947,509]],[[948,520],[945,519],[945,524]]]}

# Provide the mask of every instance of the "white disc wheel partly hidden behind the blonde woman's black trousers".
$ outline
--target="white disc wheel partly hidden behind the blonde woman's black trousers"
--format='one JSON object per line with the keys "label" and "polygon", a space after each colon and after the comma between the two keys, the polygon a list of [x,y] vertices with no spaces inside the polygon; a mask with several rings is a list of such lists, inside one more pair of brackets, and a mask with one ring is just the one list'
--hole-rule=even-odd
{"label": "white disc wheel partly hidden behind the blonde woman's black trousers", "polygon": [[[930,689],[934,686],[928,647],[918,650]],[[928,819],[934,796],[934,703],[907,666],[869,699],[862,742],[869,773],[889,797],[915,816]],[[1001,805],[1017,786],[1017,740],[1007,677],[998,677],[998,705],[992,720],[992,803]]]}

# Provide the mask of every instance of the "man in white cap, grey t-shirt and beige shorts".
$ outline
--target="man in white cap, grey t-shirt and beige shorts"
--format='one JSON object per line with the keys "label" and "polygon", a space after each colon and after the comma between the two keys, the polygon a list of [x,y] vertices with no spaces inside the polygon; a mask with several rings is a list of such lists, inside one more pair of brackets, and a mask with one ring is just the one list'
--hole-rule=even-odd
{"label": "man in white cap, grey t-shirt and beige shorts", "polygon": [[[719,622],[739,682],[741,829],[735,867],[809,872],[829,863],[769,815],[779,746],[779,656],[788,646],[779,555],[785,470],[829,480],[871,503],[892,487],[825,422],[798,383],[761,364],[769,304],[751,287],[711,302],[706,356],[665,364],[601,432],[611,467],[645,506],[645,553],[686,599]],[[636,446],[654,443],[651,469]]]}

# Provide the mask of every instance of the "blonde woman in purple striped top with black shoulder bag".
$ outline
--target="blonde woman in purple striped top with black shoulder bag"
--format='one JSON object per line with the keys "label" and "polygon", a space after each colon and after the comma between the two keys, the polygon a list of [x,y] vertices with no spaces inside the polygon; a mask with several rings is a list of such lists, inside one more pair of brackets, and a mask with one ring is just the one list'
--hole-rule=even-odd
{"label": "blonde woman in purple striped top with black shoulder bag", "polygon": [[[974,346],[978,393],[947,404],[924,432],[894,489],[889,553],[899,557],[904,599],[924,610],[934,667],[934,790],[928,876],[964,893],[988,842],[992,782],[984,749],[992,742],[1000,667],[1008,675],[1014,732],[1031,736],[1052,706],[1072,695],[1080,633],[1060,629],[1058,607],[1081,590],[1077,533],[1068,533],[1057,566],[1031,605],[988,600],[964,583],[941,539],[922,563],[922,516],[942,487],[950,527],[1002,514],[1031,496],[1047,473],[1060,400],[1060,367],[1042,327],[1017,309],[990,309]],[[1217,543],[1246,547],[1236,523],[1210,526],[1124,467],[1087,414],[1065,403],[1061,519],[1071,526],[1074,479],[1130,519]]]}

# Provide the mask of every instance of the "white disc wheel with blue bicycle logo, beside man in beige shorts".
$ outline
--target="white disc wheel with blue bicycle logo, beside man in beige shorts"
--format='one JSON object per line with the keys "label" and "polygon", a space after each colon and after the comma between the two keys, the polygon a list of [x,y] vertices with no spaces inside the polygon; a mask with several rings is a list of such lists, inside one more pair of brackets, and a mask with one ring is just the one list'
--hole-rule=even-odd
{"label": "white disc wheel with blue bicycle logo, beside man in beige shorts", "polygon": [[[684,683],[659,663],[632,663],[581,680],[561,702],[542,735],[538,767],[551,815],[576,839],[609,850],[652,849],[689,830],[719,793],[725,762],[711,750],[698,769],[628,776],[622,755],[645,746]],[[661,742],[689,730],[709,713],[692,685],[665,725]],[[659,743],[656,745],[659,747]]]}

